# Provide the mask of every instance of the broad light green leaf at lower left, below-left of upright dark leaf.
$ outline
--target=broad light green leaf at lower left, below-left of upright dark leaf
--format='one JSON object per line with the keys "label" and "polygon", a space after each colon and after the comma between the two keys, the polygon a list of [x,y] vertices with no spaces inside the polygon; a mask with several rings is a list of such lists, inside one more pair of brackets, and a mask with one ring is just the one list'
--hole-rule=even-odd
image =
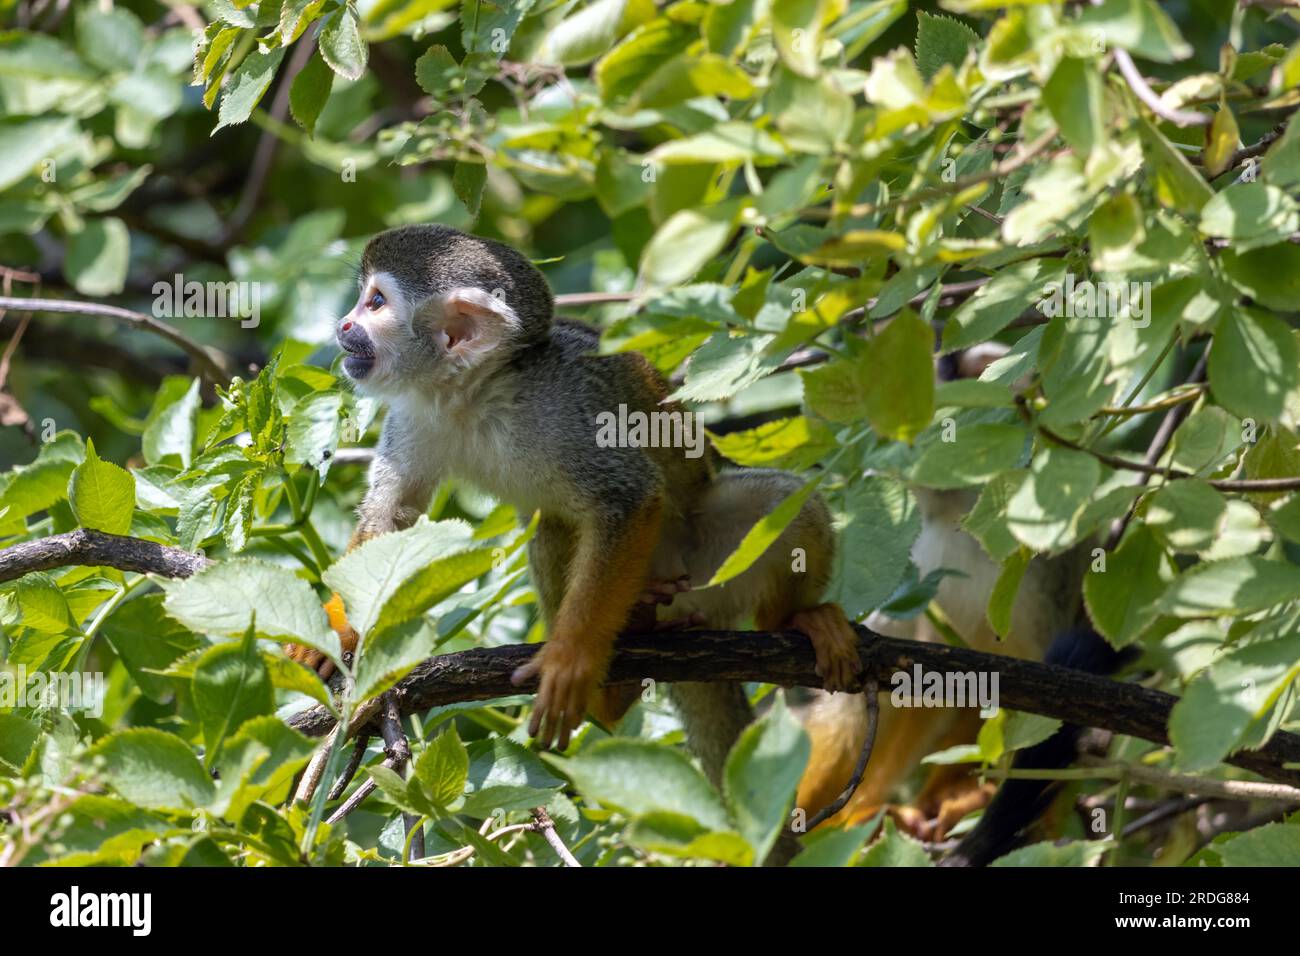
{"label": "broad light green leaf at lower left, below-left of upright dark leaf", "polygon": [[152,727],[120,731],[90,750],[103,757],[103,773],[122,797],[150,809],[190,810],[216,795],[212,778],[174,734]]}

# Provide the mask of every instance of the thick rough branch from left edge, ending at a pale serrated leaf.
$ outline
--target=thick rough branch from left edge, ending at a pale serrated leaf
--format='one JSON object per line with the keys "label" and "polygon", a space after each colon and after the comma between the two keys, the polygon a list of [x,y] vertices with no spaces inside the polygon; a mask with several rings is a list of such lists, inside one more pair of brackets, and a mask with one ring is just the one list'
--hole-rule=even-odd
{"label": "thick rough branch from left edge, ending at a pale serrated leaf", "polygon": [[202,554],[103,531],[69,531],[0,550],[0,581],[56,567],[116,567],[120,571],[188,578],[211,562]]}

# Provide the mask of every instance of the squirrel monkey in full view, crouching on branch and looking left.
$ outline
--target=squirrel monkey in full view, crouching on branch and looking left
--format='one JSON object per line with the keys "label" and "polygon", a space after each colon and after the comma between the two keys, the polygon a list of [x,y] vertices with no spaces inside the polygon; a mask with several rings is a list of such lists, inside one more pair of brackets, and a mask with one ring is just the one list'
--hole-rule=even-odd
{"label": "squirrel monkey in full view, crouching on branch and looking left", "polygon": [[[819,604],[833,553],[826,506],[810,499],[742,575],[692,591],[801,481],[777,471],[715,475],[707,455],[681,447],[598,446],[601,412],[681,408],[664,402],[667,385],[644,356],[597,355],[594,329],[554,320],[550,289],[528,259],[447,226],[403,226],[365,247],[360,287],[338,323],[343,368],[389,412],[350,548],[413,524],[447,476],[520,514],[541,512],[529,563],[547,639],[514,675],[538,679],[529,732],[540,744],[567,747],[589,710],[606,722],[621,715],[625,695],[601,688],[614,640],[655,605],[685,623],[723,628],[753,615],[764,630],[802,631],[827,688],[854,684],[857,636],[838,607]],[[792,570],[794,549],[806,570]],[[358,635],[337,596],[326,609],[352,650]],[[316,652],[287,650],[332,670]],[[698,687],[679,688],[688,735],[696,718],[725,721],[718,739],[733,740],[748,722],[744,696]],[[703,749],[716,779],[725,752]]]}

